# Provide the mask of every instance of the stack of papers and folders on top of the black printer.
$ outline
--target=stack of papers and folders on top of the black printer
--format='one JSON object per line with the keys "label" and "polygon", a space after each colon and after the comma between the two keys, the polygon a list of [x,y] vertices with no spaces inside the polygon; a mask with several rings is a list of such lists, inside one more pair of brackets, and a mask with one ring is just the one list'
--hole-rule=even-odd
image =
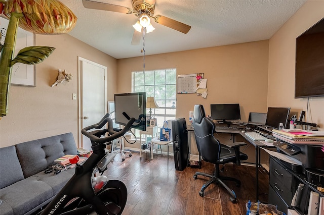
{"label": "stack of papers and folders on top of the black printer", "polygon": [[323,131],[306,131],[301,129],[272,130],[272,135],[280,140],[295,144],[323,145]]}

